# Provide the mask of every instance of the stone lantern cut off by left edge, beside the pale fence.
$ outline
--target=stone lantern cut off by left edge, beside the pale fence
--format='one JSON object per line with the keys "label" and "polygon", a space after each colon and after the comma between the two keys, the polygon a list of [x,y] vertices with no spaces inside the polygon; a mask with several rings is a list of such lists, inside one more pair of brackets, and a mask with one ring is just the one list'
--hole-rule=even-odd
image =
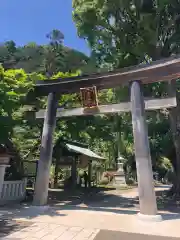
{"label": "stone lantern cut off by left edge, beside the pale fence", "polygon": [[11,156],[8,154],[7,148],[0,144],[0,195],[3,188],[5,170],[6,167],[9,166],[10,157]]}

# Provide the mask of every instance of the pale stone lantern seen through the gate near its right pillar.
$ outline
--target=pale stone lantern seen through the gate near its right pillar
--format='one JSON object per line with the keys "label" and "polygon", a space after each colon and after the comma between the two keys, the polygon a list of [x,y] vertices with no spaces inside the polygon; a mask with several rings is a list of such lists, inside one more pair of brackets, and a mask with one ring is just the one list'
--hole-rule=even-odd
{"label": "pale stone lantern seen through the gate near its right pillar", "polygon": [[122,161],[124,160],[123,157],[119,157],[117,163],[117,172],[114,173],[114,185],[116,187],[124,186],[126,185],[126,179],[125,179],[125,174],[124,174],[124,169],[123,169],[123,163]]}

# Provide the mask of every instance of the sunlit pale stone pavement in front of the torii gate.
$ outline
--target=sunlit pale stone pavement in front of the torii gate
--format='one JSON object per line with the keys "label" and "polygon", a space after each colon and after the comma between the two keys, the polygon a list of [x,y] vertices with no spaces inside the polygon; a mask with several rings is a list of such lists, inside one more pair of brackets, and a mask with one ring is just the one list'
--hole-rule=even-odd
{"label": "sunlit pale stone pavement in front of the torii gate", "polygon": [[[121,194],[125,201],[136,196],[137,189]],[[110,207],[103,207],[102,202],[102,207],[96,204],[81,204],[49,208],[27,206],[17,209],[13,213],[13,219],[28,221],[32,225],[2,239],[93,240],[101,229],[180,238],[178,213],[162,211],[163,221],[142,221],[137,217],[138,209],[118,207],[117,203],[110,204],[113,203],[113,199],[118,200],[115,196],[105,200]]]}

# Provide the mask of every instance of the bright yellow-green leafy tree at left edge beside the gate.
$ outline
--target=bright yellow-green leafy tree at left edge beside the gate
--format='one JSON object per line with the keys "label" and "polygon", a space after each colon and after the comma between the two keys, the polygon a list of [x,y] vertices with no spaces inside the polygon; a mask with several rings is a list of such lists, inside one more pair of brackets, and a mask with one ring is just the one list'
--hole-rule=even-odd
{"label": "bright yellow-green leafy tree at left edge beside the gate", "polygon": [[0,143],[5,144],[14,155],[16,173],[20,171],[20,152],[13,141],[15,126],[24,122],[22,101],[32,88],[27,74],[23,70],[4,71],[0,66]]}

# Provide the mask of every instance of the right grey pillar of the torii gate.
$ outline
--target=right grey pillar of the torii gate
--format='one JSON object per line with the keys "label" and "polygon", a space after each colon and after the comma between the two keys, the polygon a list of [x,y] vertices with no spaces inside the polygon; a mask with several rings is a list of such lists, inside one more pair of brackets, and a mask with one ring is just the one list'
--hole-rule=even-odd
{"label": "right grey pillar of the torii gate", "polygon": [[131,107],[139,189],[139,215],[151,215],[155,217],[157,216],[157,204],[153,183],[152,163],[145,119],[144,99],[138,81],[134,81],[131,85]]}

